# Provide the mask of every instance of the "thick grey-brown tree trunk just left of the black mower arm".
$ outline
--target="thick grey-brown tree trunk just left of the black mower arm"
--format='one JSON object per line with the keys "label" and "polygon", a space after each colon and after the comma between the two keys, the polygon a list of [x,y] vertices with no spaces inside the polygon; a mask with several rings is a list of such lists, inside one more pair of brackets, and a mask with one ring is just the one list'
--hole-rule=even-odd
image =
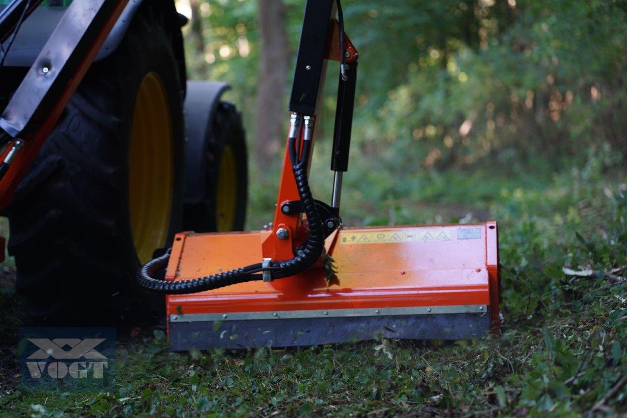
{"label": "thick grey-brown tree trunk just left of the black mower arm", "polygon": [[271,161],[282,142],[285,87],[289,64],[285,6],[280,0],[258,0],[261,63],[255,122],[257,161]]}

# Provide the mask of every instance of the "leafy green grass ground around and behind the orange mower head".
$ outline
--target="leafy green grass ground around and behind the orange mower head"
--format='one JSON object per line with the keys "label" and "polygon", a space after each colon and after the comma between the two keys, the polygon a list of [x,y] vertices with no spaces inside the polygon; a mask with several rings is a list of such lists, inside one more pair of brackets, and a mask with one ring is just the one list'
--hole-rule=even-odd
{"label": "leafy green grass ground around and behind the orange mower head", "polygon": [[[23,315],[19,299],[5,289],[0,410],[34,416],[624,412],[625,174],[602,158],[550,176],[453,171],[417,176],[416,190],[374,200],[381,190],[357,190],[349,181],[351,222],[499,220],[505,323],[502,335],[483,340],[171,353],[157,327],[135,336],[125,331],[115,391],[31,394],[14,389],[15,325]],[[253,206],[271,202],[272,193],[253,195]],[[254,222],[263,222],[261,215]],[[564,267],[593,273],[565,274]]]}

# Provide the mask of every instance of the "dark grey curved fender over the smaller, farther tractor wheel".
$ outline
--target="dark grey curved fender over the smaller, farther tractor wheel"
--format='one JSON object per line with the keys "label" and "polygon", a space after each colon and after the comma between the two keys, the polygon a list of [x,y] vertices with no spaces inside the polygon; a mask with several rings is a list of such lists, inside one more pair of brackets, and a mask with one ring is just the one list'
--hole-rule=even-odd
{"label": "dark grey curved fender over the smaller, farther tractor wheel", "polygon": [[221,96],[231,88],[223,82],[187,81],[185,116],[185,203],[198,203],[206,195],[207,139]]}

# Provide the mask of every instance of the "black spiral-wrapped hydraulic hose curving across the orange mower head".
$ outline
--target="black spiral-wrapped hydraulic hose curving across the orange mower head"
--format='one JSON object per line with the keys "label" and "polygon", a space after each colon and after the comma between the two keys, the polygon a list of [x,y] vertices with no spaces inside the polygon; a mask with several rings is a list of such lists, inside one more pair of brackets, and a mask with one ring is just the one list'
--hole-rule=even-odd
{"label": "black spiral-wrapped hydraulic hose curving across the orange mower head", "polygon": [[213,274],[211,276],[198,277],[198,279],[182,280],[182,281],[163,281],[154,279],[152,276],[161,269],[164,269],[170,259],[170,252],[154,260],[150,260],[137,272],[137,282],[140,286],[151,291],[166,294],[187,294],[203,292],[219,287],[230,286],[243,282],[261,280],[263,271],[270,271],[272,279],[281,279],[283,277],[294,276],[311,267],[322,254],[324,247],[324,229],[322,220],[318,214],[318,208],[315,206],[307,180],[307,161],[310,151],[310,142],[304,141],[302,155],[298,158],[296,151],[295,138],[288,141],[290,162],[292,163],[292,171],[298,188],[298,195],[303,203],[305,215],[309,223],[309,237],[302,250],[290,260],[270,262],[269,267],[262,267],[261,263],[241,267],[227,272]]}

